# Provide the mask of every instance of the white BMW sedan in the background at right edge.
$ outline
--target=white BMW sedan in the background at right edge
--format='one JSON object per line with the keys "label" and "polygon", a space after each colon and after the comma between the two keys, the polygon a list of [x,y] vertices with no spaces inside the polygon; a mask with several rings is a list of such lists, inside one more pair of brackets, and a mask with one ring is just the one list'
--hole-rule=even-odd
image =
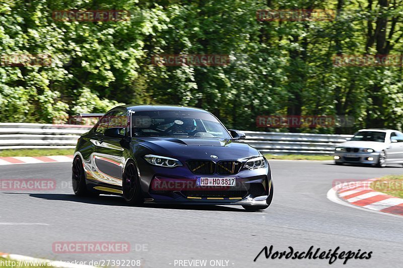
{"label": "white BMW sedan in the background at right edge", "polygon": [[392,129],[361,129],[334,150],[335,164],[362,163],[384,167],[403,164],[403,133]]}

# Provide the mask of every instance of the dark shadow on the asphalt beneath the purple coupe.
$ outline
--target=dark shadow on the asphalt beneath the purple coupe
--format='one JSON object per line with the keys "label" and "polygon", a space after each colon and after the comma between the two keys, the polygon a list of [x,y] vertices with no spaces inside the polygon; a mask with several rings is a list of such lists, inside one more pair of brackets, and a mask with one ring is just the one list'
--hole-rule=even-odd
{"label": "dark shadow on the asphalt beneath the purple coupe", "polygon": [[[27,193],[5,193],[13,195],[29,195],[30,197],[46,199],[79,202],[85,204],[104,205],[104,206],[120,206],[120,207],[143,207],[150,209],[179,209],[179,210],[206,210],[206,211],[237,211],[251,212],[243,208],[223,207],[215,205],[155,205],[147,204],[143,206],[131,206],[125,204],[124,199],[119,196],[99,196],[99,197],[78,197],[70,194],[27,194]],[[253,212],[253,211],[252,211]],[[263,211],[257,211],[263,212]]]}

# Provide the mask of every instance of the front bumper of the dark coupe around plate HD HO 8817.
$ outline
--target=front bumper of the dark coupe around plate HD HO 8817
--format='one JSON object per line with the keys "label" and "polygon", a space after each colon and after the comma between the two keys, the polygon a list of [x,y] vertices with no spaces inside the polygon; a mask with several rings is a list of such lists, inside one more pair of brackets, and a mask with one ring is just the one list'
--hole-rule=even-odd
{"label": "front bumper of the dark coupe around plate HD HO 8817", "polygon": [[[141,159],[139,159],[141,161]],[[267,205],[271,193],[270,166],[241,169],[231,175],[192,173],[186,166],[158,167],[140,163],[143,196],[147,204]],[[236,186],[200,187],[201,177],[235,178]]]}

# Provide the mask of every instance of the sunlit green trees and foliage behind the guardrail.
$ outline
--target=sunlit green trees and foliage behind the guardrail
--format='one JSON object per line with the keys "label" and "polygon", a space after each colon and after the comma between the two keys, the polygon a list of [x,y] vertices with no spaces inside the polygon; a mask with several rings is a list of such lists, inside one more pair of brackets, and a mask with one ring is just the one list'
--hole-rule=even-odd
{"label": "sunlit green trees and foliage behind the guardrail", "polygon": [[[204,108],[238,129],[273,131],[256,128],[256,116],[284,114],[355,118],[352,128],[293,131],[401,129],[401,67],[332,62],[336,54],[403,53],[398,19],[403,7],[382,3],[2,0],[0,60],[47,54],[52,61],[0,66],[0,122],[51,123],[76,113],[103,113],[122,103],[157,103]],[[259,9],[338,10],[338,16],[261,22],[256,20]],[[56,21],[52,12],[57,10],[127,10],[132,16],[124,21]],[[384,36],[374,30],[382,28],[383,17]],[[161,54],[230,55],[231,63],[152,64],[153,56]]]}

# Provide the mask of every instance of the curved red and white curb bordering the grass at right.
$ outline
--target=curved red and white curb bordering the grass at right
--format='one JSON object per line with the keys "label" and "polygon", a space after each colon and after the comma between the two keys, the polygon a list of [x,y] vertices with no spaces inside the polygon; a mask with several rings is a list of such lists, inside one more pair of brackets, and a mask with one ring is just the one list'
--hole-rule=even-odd
{"label": "curved red and white curb bordering the grass at right", "polygon": [[403,199],[372,190],[370,184],[376,180],[340,184],[327,192],[327,199],[345,206],[403,216]]}

